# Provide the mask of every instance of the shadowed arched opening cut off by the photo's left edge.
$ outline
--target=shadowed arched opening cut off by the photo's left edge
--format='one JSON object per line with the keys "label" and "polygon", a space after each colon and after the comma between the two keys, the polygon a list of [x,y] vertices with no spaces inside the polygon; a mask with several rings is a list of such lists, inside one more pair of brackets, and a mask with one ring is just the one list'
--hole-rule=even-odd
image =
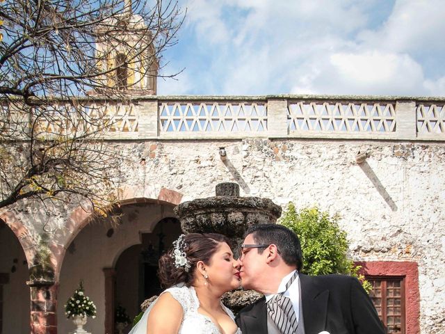
{"label": "shadowed arched opening cut off by the photo's left edge", "polygon": [[0,219],[0,334],[29,333],[28,262],[19,240]]}

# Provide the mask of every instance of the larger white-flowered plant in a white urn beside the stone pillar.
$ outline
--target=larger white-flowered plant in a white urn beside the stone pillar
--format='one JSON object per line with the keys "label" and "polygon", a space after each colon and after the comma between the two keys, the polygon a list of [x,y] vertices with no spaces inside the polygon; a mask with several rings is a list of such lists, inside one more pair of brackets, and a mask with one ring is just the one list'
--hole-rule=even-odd
{"label": "larger white-flowered plant in a white urn beside the stone pillar", "polygon": [[87,318],[92,317],[94,319],[96,317],[96,305],[85,295],[82,281],[65,304],[65,315],[68,319],[72,317],[72,321],[77,327],[74,333],[87,333],[83,329]]}

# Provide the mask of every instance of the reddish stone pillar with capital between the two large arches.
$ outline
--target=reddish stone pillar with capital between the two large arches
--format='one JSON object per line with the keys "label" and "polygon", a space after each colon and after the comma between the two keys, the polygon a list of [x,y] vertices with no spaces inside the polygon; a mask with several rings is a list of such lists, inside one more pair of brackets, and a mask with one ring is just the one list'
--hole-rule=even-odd
{"label": "reddish stone pillar with capital between the two large arches", "polygon": [[27,282],[31,289],[31,334],[57,334],[58,283]]}

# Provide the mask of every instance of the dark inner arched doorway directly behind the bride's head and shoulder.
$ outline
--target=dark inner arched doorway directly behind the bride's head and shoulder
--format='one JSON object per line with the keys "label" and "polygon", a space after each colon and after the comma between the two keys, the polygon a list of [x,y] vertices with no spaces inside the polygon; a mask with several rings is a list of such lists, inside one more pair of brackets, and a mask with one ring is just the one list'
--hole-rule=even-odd
{"label": "dark inner arched doorway directly behind the bride's head and shoulder", "polygon": [[[153,232],[141,233],[142,244],[124,250],[115,265],[115,306],[121,305],[131,320],[140,312],[140,304],[158,295],[162,289],[157,276],[158,260],[181,233],[177,218],[156,223]],[[130,328],[126,328],[129,331]],[[124,332],[125,333],[125,332]]]}

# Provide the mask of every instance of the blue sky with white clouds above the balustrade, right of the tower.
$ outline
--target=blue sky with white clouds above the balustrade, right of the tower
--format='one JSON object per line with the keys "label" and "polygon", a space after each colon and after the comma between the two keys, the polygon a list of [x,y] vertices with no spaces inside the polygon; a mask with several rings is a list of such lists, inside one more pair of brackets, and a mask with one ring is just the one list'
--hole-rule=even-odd
{"label": "blue sky with white clouds above the balustrade, right of the tower", "polygon": [[158,95],[445,96],[445,0],[179,0]]}

